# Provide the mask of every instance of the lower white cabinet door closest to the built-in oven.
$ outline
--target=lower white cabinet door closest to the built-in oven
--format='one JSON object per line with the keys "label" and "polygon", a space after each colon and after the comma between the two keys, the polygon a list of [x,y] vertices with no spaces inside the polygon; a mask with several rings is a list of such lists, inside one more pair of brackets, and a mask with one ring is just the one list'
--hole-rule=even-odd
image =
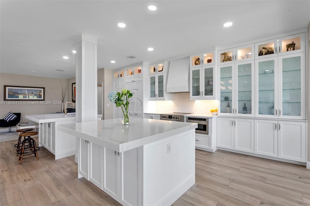
{"label": "lower white cabinet door closest to the built-in oven", "polygon": [[233,118],[217,118],[217,147],[233,149]]}

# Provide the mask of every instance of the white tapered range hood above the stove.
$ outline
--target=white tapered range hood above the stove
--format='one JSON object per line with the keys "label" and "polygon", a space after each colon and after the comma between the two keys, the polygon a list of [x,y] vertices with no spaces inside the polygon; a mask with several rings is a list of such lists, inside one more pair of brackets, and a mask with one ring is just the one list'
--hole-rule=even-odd
{"label": "white tapered range hood above the stove", "polygon": [[167,89],[168,93],[189,92],[189,58],[170,62]]}

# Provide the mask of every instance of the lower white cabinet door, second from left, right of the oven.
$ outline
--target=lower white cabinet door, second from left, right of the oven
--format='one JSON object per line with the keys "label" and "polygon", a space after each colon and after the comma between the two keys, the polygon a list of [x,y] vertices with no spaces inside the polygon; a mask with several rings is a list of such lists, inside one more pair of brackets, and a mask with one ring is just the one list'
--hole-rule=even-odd
{"label": "lower white cabinet door, second from left, right of the oven", "polygon": [[253,119],[234,119],[234,149],[254,153]]}

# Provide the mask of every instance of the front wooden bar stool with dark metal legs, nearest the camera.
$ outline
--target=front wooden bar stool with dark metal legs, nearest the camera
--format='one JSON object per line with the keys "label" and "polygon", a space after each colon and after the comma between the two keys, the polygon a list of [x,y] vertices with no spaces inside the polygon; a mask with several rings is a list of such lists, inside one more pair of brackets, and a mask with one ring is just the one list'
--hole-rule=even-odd
{"label": "front wooden bar stool with dark metal legs, nearest the camera", "polygon": [[20,137],[24,137],[24,140],[18,152],[16,152],[17,154],[19,154],[19,164],[23,162],[24,156],[31,155],[31,154],[34,154],[34,157],[36,157],[36,159],[39,160],[37,151],[40,149],[40,147],[37,147],[34,139],[31,138],[31,136],[37,135],[37,134],[38,132],[25,132],[25,133],[19,134]]}

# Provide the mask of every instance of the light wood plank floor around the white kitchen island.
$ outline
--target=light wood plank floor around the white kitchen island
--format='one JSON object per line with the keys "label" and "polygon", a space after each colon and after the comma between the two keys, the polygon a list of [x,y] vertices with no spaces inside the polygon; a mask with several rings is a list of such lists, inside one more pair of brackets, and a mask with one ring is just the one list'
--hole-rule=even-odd
{"label": "light wood plank floor around the white kitchen island", "polygon": [[[77,178],[74,156],[55,161],[41,147],[39,161],[26,159],[19,165],[15,143],[0,142],[0,206],[119,205],[85,178]],[[310,170],[226,151],[196,150],[196,184],[173,205],[309,206]]]}

